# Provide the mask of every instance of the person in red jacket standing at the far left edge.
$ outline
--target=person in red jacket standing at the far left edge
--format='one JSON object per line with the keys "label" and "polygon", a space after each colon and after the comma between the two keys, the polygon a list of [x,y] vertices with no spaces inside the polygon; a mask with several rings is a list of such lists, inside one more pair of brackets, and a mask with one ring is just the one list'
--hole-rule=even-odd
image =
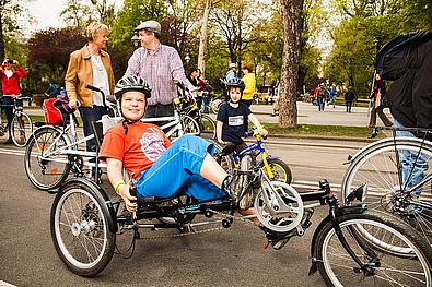
{"label": "person in red jacket standing at the far left edge", "polygon": [[[16,60],[4,59],[3,64],[0,69],[1,77],[1,92],[2,92],[2,109],[5,111],[8,119],[8,127],[12,122],[13,118],[13,100],[16,100],[16,105],[23,106],[23,101],[20,99],[21,88],[20,79],[27,76],[27,72],[20,65]],[[12,134],[9,130],[9,139],[5,144],[12,143]]]}

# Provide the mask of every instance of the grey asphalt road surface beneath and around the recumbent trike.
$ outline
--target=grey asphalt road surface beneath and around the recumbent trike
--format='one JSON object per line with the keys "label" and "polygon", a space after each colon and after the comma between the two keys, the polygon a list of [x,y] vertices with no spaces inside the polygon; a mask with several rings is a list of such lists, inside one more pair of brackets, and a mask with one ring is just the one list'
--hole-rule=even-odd
{"label": "grey asphalt road surface beneath and around the recumbent trike", "polygon": [[[287,141],[270,151],[291,165],[294,187],[315,187],[328,178],[338,191],[342,163],[361,144],[314,143]],[[54,195],[31,186],[22,154],[0,145],[0,286],[1,280],[16,286],[324,286],[319,274],[307,272],[311,238],[326,207],[316,210],[303,237],[280,251],[264,250],[262,232],[238,222],[208,234],[139,240],[131,259],[117,254],[100,276],[75,276],[62,264],[50,238]],[[141,231],[142,237],[173,234],[177,231]],[[122,235],[118,242],[125,248],[129,239]]]}

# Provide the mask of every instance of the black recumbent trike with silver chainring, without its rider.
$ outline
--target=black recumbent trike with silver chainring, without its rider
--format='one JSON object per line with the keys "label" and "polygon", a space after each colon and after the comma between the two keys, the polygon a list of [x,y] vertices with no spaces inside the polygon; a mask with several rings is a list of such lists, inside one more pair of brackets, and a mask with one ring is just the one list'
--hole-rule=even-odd
{"label": "black recumbent trike with silver chainring, without its rider", "polygon": [[[256,187],[245,189],[255,192],[256,216],[270,230],[288,232],[289,237],[303,236],[311,226],[313,208],[329,206],[328,216],[312,239],[310,271],[319,271],[328,286],[431,286],[431,247],[408,225],[366,211],[364,204],[340,207],[326,180],[319,182],[319,190],[297,193],[287,183],[270,181],[260,168],[245,172]],[[362,189],[355,190],[354,198],[361,198],[361,192]],[[240,193],[241,199],[245,195]],[[177,228],[187,235],[187,230],[198,226],[222,224],[229,228],[235,219],[250,217],[234,216],[237,206],[231,199],[183,203],[142,198],[131,215],[121,213],[120,206],[121,201],[113,202],[105,190],[85,179],[70,179],[59,189],[51,207],[51,237],[58,255],[71,272],[80,276],[101,273],[114,251],[119,250],[116,236],[128,230],[132,231],[133,247],[135,240],[142,238],[140,228]],[[198,214],[207,219],[196,220]],[[174,223],[152,222],[160,217],[174,218]],[[133,248],[130,250],[133,252]]]}

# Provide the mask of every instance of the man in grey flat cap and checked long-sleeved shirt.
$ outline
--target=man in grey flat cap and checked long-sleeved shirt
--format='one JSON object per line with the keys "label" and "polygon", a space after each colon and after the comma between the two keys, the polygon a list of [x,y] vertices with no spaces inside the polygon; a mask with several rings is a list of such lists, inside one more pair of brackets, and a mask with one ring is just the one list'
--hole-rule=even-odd
{"label": "man in grey flat cap and checked long-sleeved shirt", "polygon": [[159,22],[153,20],[142,22],[135,31],[138,32],[141,47],[130,57],[125,76],[139,75],[152,89],[152,96],[148,99],[145,118],[173,116],[173,99],[177,96],[175,82],[183,83],[191,91],[195,87],[185,75],[182,59],[176,49],[161,44]]}

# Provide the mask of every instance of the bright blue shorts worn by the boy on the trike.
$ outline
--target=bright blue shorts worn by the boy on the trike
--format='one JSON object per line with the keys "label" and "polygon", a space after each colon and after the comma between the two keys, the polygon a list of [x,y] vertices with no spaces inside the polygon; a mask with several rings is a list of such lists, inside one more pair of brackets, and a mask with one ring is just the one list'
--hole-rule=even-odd
{"label": "bright blue shorts worn by the boy on the trike", "polygon": [[198,136],[183,135],[152,167],[141,172],[137,182],[137,196],[165,199],[187,194],[199,201],[226,198],[226,192],[199,175],[203,158],[213,153],[213,144]]}

